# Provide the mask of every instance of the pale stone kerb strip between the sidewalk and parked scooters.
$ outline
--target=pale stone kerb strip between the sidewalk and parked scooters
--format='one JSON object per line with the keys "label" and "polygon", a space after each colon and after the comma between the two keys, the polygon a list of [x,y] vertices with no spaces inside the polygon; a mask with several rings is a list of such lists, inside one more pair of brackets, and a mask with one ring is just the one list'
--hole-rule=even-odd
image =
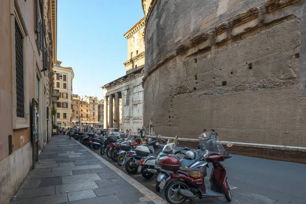
{"label": "pale stone kerb strip between the sidewalk and parked scooters", "polygon": [[[75,142],[77,142],[78,144],[81,145],[81,143],[77,140],[74,140]],[[103,162],[105,165],[107,165],[110,169],[112,169],[113,171],[115,171],[118,175],[120,175],[122,177],[122,179],[124,179],[125,181],[129,182],[132,186],[134,186],[136,189],[138,189],[142,194],[144,194],[144,196],[148,197],[150,200],[152,200],[153,202],[155,202],[156,204],[166,204],[168,203],[166,200],[164,200],[163,198],[161,198],[160,196],[158,196],[157,194],[155,194],[154,192],[150,191],[149,189],[147,189],[144,185],[140,184],[139,182],[137,182],[135,179],[133,179],[131,176],[127,175],[126,173],[124,173],[123,171],[121,171],[120,169],[118,169],[117,167],[115,167],[114,165],[112,165],[110,162],[106,161],[105,159],[101,158],[99,155],[97,155],[94,151],[92,151],[91,149],[89,149],[88,147],[81,145],[84,149],[86,149],[88,152],[90,152],[90,154],[92,154],[93,156],[95,156],[98,160],[100,160],[101,162]]]}

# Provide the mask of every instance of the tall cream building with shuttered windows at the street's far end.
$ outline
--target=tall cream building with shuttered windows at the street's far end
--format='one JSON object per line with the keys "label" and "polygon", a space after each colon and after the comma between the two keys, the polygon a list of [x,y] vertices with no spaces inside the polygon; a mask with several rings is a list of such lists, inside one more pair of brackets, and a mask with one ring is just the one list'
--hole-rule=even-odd
{"label": "tall cream building with shuttered windows at the street's far end", "polygon": [[72,80],[74,73],[71,67],[64,67],[61,63],[58,60],[53,68],[56,71],[55,88],[59,90],[56,118],[59,127],[67,128],[72,125]]}

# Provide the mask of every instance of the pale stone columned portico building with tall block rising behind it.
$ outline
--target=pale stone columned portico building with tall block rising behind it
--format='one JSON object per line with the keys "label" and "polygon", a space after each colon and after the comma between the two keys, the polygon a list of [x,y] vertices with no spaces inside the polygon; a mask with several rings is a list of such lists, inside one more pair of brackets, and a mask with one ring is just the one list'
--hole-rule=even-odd
{"label": "pale stone columned portico building with tall block rising behind it", "polygon": [[141,83],[144,75],[145,56],[144,24],[145,18],[142,18],[124,34],[127,39],[127,61],[123,63],[126,75],[101,87],[104,89],[105,95],[105,128],[131,129],[133,133],[137,133],[143,125],[143,88]]}

